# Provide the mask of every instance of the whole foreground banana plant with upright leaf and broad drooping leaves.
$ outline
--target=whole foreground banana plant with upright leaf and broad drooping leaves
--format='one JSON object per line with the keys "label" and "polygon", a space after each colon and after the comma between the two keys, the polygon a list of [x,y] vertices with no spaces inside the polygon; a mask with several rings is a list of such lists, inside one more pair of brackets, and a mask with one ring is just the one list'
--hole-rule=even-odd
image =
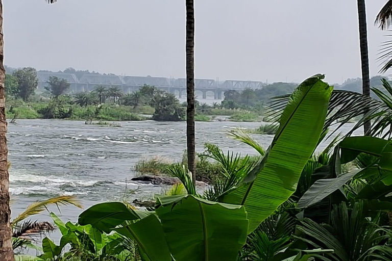
{"label": "whole foreground banana plant with upright leaf and broad drooping leaves", "polygon": [[[260,160],[234,188],[219,195],[219,202],[188,188],[188,195],[158,196],[155,212],[101,203],[84,211],[78,223],[134,240],[143,260],[235,260],[247,235],[296,191],[327,114],[332,87],[322,79],[324,75],[314,75],[293,92],[272,145],[257,149]],[[191,180],[179,177],[187,187]]]}

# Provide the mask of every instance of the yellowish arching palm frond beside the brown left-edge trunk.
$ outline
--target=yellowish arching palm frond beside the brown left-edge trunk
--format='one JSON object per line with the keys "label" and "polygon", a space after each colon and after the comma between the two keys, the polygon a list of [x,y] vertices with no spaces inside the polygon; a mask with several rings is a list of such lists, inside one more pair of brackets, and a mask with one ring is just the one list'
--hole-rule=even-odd
{"label": "yellowish arching palm frond beside the brown left-edge trunk", "polygon": [[30,204],[25,211],[20,213],[16,218],[14,218],[11,222],[11,226],[15,226],[17,223],[20,221],[39,214],[43,212],[44,210],[47,209],[47,206],[49,205],[56,205],[57,207],[59,205],[74,205],[79,208],[83,208],[81,202],[75,197],[75,196],[58,196],[58,197],[53,197],[44,201],[37,201],[32,204]]}

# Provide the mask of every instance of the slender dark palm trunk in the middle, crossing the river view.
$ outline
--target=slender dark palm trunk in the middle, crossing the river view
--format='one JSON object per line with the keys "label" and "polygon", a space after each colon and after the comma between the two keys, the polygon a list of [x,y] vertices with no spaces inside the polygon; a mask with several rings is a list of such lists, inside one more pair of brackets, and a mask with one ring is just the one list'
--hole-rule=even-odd
{"label": "slender dark palm trunk in the middle, crossing the river view", "polygon": [[186,6],[186,145],[188,169],[196,182],[196,151],[194,136],[194,6],[193,0],[185,0]]}

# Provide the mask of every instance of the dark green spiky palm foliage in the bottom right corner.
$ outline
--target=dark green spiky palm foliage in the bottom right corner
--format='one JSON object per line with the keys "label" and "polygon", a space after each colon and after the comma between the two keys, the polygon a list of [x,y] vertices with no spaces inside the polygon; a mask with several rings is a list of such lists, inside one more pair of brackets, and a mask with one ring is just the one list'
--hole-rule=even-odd
{"label": "dark green spiky palm foliage in the bottom right corner", "polygon": [[[390,260],[390,246],[384,245],[391,239],[389,228],[379,225],[379,218],[367,219],[363,215],[363,203],[354,203],[350,211],[345,203],[334,206],[331,226],[323,226],[304,219],[298,229],[301,239],[312,247],[333,249],[327,254],[333,260]],[[380,245],[387,251],[380,251]],[[381,257],[382,256],[382,257]]]}

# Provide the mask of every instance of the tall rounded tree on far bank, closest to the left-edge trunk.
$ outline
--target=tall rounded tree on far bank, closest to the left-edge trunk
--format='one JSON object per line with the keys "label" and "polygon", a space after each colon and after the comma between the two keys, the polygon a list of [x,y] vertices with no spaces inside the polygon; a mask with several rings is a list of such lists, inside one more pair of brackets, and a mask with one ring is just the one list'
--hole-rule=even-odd
{"label": "tall rounded tree on far bank, closest to the left-edge trunk", "polygon": [[18,94],[24,101],[27,101],[35,93],[38,87],[38,77],[36,69],[26,67],[12,73],[18,82]]}

